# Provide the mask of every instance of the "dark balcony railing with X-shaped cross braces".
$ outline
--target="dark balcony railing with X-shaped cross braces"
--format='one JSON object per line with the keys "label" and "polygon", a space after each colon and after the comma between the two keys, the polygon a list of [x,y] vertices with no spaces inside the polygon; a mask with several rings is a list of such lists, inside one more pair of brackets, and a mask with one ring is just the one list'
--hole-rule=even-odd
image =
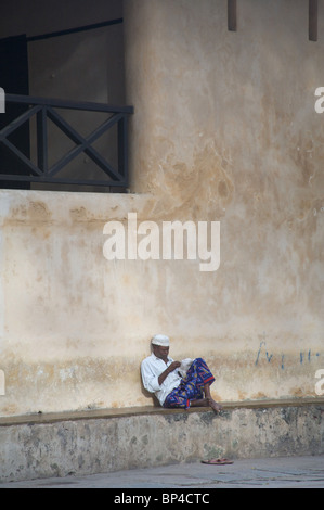
{"label": "dark balcony railing with X-shaped cross braces", "polygon": [[[16,105],[17,116],[9,115],[8,124],[7,113],[1,114],[0,129],[0,184],[1,181],[21,181],[21,182],[41,182],[47,184],[77,184],[94,187],[118,187],[128,188],[128,118],[133,114],[132,106],[114,106],[108,104],[92,102],[62,101],[55,99],[33,98],[28,95],[5,95],[7,111],[10,106]],[[86,112],[96,112],[104,115],[105,119],[92,129],[90,135],[81,135],[79,129],[72,126],[61,111],[78,111],[78,122],[80,126],[87,124],[82,119]],[[68,139],[73,146],[64,153],[57,161],[54,161],[51,151],[56,149],[51,146],[49,137],[49,120],[59,128]],[[33,124],[34,123],[34,124]],[[15,133],[23,126],[27,128],[27,138],[29,138],[29,126],[33,124],[34,152],[36,156],[30,157],[30,148],[22,149],[16,142]],[[91,125],[93,124],[93,119]],[[35,127],[36,126],[36,127]],[[112,140],[116,144],[114,153],[114,164],[107,161],[106,151],[101,152],[93,144],[108,130],[115,129],[115,136]],[[30,144],[30,141],[28,141]],[[25,144],[26,145],[26,144]],[[104,149],[106,146],[104,145]],[[8,164],[8,158],[1,157],[1,154],[10,154],[11,161],[17,162],[17,165]],[[109,152],[109,151],[108,151]],[[111,151],[112,152],[112,151]],[[70,175],[64,171],[77,156],[85,153],[87,161],[91,160],[93,166],[101,171],[92,171],[92,175],[80,175],[80,171]],[[50,157],[51,155],[51,157]],[[10,166],[10,167],[8,167]]]}

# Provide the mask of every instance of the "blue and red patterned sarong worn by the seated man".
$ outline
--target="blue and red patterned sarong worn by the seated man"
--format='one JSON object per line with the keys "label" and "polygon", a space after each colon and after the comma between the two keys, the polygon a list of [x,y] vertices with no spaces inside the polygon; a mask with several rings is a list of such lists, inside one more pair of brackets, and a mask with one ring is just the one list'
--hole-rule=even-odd
{"label": "blue and red patterned sarong worn by the seated man", "polygon": [[186,377],[181,380],[180,385],[167,395],[164,407],[189,409],[191,400],[204,398],[204,385],[212,384],[213,381],[215,377],[207,367],[206,361],[203,358],[196,358],[186,372]]}

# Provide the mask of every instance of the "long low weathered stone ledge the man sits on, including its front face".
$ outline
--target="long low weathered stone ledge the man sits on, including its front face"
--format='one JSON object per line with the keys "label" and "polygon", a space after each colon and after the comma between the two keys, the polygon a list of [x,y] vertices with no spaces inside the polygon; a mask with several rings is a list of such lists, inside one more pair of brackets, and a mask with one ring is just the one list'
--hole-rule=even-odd
{"label": "long low weathered stone ledge the man sits on, including its front face", "polygon": [[138,407],[2,418],[0,483],[105,473],[211,457],[324,454],[320,398]]}

